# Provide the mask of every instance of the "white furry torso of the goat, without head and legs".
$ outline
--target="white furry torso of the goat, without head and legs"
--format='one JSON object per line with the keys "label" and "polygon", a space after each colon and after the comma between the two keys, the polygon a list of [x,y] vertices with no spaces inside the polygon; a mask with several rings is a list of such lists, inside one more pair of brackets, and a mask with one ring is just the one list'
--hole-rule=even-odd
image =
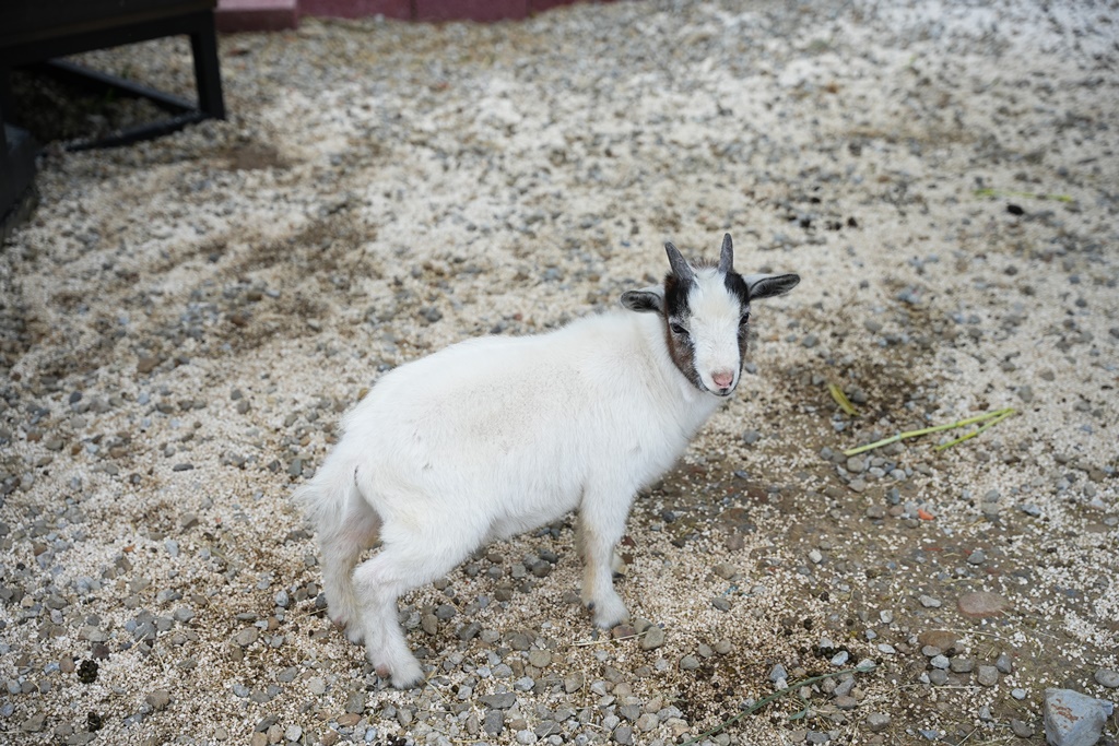
{"label": "white furry torso of the goat, without head and legs", "polygon": [[378,381],[337,457],[378,511],[420,521],[468,504],[483,509],[460,520],[499,535],[562,516],[586,489],[629,499],[717,406],[673,368],[662,334],[656,317],[613,312],[454,344]]}

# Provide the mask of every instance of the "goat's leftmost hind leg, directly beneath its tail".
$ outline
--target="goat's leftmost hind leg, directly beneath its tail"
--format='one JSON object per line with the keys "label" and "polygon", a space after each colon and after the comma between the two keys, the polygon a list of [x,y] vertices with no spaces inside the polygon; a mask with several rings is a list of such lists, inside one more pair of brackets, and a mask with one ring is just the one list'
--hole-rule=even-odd
{"label": "goat's leftmost hind leg, directly beneath its tail", "polygon": [[337,517],[320,519],[322,586],[330,620],[352,643],[361,642],[361,605],[354,588],[354,568],[361,554],[377,542],[380,517],[359,495],[351,495]]}

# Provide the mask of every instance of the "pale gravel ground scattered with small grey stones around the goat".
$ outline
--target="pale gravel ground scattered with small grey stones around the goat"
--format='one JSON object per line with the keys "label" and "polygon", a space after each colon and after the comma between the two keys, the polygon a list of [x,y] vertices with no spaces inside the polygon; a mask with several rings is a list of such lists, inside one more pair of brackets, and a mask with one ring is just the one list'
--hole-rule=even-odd
{"label": "pale gravel ground scattered with small grey stones around the goat", "polygon": [[[0,254],[3,739],[657,745],[866,660],[703,743],[1040,744],[1045,688],[1115,699],[1117,9],[304,20],[223,38],[231,121],[51,149]],[[190,91],[180,41],[86,60]],[[592,629],[568,520],[402,599],[430,678],[387,689],[290,501],[340,413],[724,230],[803,281],[634,504],[633,626]]]}

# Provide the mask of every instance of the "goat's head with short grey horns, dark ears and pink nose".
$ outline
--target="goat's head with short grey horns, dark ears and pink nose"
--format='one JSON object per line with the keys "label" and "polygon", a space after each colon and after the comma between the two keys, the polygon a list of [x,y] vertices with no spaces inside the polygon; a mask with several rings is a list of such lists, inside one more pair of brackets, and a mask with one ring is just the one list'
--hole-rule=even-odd
{"label": "goat's head with short grey horns, dark ears and pink nose", "polygon": [[688,264],[671,243],[665,249],[671,267],[665,282],[623,293],[622,305],[660,314],[669,355],[680,372],[700,391],[730,396],[745,358],[751,301],[783,295],[800,276],[739,274],[731,234],[723,238],[717,265]]}

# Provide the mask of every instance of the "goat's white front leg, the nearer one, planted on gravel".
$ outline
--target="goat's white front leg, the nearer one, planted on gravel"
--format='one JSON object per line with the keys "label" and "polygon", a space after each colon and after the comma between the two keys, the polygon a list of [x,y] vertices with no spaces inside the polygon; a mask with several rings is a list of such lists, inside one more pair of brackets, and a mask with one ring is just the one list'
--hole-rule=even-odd
{"label": "goat's white front leg, the nearer one, planted on gravel", "polygon": [[[629,495],[585,494],[579,511],[579,549],[583,555],[583,603],[591,610],[594,623],[610,629],[629,621],[629,612],[614,591],[614,546],[626,532]],[[624,493],[621,493],[624,494]]]}

